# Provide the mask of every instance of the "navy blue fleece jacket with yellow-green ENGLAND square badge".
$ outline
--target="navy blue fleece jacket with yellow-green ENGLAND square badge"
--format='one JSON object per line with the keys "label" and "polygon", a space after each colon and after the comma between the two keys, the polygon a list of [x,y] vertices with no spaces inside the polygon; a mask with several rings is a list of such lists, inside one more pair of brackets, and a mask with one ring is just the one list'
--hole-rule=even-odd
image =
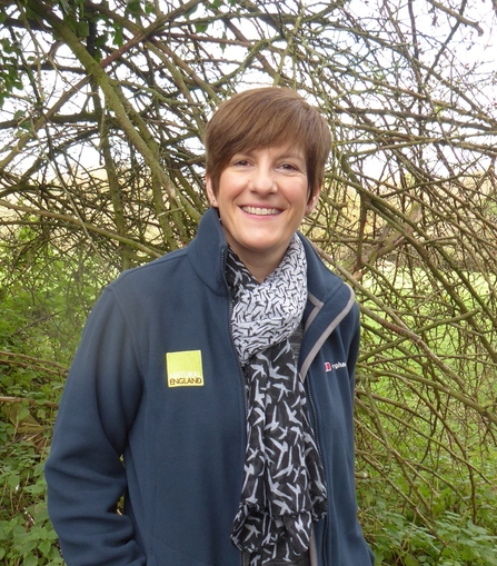
{"label": "navy blue fleece jacket with yellow-green ENGLAND square badge", "polygon": [[[370,566],[356,517],[351,290],[302,238],[309,300],[299,367],[324,461],[319,566]],[[237,566],[230,542],[246,448],[230,337],[227,244],[216,210],[178,250],[126,271],[95,306],[46,466],[68,566]],[[123,513],[116,512],[123,496]]]}

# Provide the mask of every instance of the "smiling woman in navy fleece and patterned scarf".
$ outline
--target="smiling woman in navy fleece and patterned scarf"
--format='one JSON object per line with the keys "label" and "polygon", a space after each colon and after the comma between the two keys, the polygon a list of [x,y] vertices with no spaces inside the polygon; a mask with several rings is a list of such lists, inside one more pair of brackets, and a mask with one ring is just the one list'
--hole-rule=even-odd
{"label": "smiling woman in navy fleece and patterned scarf", "polygon": [[71,367],[46,468],[69,566],[372,564],[358,309],[297,234],[329,150],[287,89],[237,95],[208,123],[197,237],[106,289]]}

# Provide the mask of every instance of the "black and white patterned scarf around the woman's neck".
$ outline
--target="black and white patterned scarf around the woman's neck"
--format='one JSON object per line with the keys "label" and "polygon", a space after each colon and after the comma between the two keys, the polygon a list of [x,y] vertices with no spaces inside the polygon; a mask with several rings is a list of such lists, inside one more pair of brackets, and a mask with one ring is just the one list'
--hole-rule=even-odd
{"label": "black and white patterned scarf around the woman's neck", "polygon": [[230,249],[227,280],[232,335],[248,389],[247,450],[231,540],[250,566],[291,564],[309,548],[312,522],[327,509],[324,471],[307,417],[289,337],[307,300],[304,246],[294,236],[260,285]]}

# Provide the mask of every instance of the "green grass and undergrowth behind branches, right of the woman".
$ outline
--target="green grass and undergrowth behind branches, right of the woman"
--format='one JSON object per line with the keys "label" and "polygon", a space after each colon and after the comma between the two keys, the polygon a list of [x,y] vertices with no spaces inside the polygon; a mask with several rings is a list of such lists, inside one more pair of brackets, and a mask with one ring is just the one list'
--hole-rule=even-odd
{"label": "green grass and undergrowth behind branches, right of the woman", "polygon": [[[436,278],[450,281],[461,310],[475,311],[481,298],[488,304],[495,275],[433,276],[398,261],[385,262],[380,274],[362,280],[361,305],[372,316],[364,322],[357,430],[368,463],[361,518],[377,565],[497,565],[497,449],[475,403],[491,404],[495,365],[461,332],[465,320],[447,324],[454,305],[436,291]],[[391,339],[377,297],[417,340]],[[494,341],[491,321],[483,318],[480,328]]]}

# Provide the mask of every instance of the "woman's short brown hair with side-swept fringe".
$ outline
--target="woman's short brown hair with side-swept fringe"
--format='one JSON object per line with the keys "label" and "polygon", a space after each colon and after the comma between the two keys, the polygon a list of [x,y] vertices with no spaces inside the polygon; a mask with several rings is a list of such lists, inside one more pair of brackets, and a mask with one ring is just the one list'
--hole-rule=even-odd
{"label": "woman's short brown hair with side-swept fringe", "polygon": [[235,153],[280,145],[295,145],[304,150],[310,200],[322,183],[331,149],[325,118],[287,88],[251,89],[222,102],[205,135],[206,171],[213,193]]}

